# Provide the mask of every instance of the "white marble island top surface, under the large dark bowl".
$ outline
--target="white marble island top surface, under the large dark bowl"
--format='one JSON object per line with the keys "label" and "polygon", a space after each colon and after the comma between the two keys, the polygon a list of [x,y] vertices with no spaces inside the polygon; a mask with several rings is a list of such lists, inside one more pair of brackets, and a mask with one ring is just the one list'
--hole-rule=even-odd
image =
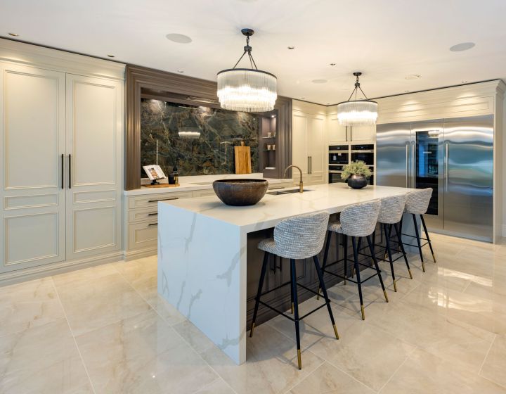
{"label": "white marble island top surface, under the large dark bowl", "polygon": [[[292,188],[289,188],[292,189]],[[233,207],[223,204],[217,196],[161,201],[182,210],[233,224],[250,232],[274,227],[280,220],[296,215],[326,210],[329,214],[341,212],[348,205],[376,198],[397,196],[410,189],[390,186],[367,186],[355,190],[346,184],[319,184],[306,186],[304,193],[278,196],[266,194],[256,205]]]}

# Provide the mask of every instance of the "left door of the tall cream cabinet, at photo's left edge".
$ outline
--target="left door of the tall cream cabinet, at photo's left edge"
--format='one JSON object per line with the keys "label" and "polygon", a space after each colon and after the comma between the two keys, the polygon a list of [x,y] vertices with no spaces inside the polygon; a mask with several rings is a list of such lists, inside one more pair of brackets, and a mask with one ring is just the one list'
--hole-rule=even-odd
{"label": "left door of the tall cream cabinet, at photo's left edge", "polygon": [[0,62],[0,272],[65,260],[65,74]]}

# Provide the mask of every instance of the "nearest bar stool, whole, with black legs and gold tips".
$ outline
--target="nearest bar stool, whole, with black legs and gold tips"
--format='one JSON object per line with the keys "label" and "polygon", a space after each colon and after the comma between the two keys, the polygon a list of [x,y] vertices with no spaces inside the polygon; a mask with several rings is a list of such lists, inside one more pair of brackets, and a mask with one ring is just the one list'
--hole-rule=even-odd
{"label": "nearest bar stool, whole, with black legs and gold tips", "polygon": [[[330,316],[330,322],[332,322],[332,326],[334,328],[334,333],[337,339],[339,339],[339,335],[337,333],[337,328],[334,321],[334,316],[332,315],[332,308],[330,307],[330,298],[327,295],[327,289],[325,288],[325,282],[323,281],[323,274],[320,269],[320,262],[318,262],[318,253],[323,248],[323,243],[325,242],[325,231],[327,229],[327,224],[329,220],[329,215],[327,212],[318,212],[316,214],[311,215],[301,215],[296,217],[290,217],[290,219],[283,220],[282,222],[276,224],[274,227],[274,238],[264,239],[260,241],[258,248],[260,250],[264,250],[264,263],[262,264],[259,287],[257,291],[257,296],[255,297],[255,306],[253,312],[253,321],[251,331],[249,336],[253,336],[253,329],[255,326],[255,321],[257,320],[257,312],[259,304],[265,305],[271,310],[278,312],[278,314],[283,314],[284,317],[292,320],[295,323],[295,336],[297,339],[297,362],[299,364],[299,369],[302,368],[301,362],[301,350],[300,350],[300,333],[299,333],[299,321],[304,319],[304,317],[309,316],[309,314],[316,312],[321,307],[327,305],[327,310]],[[264,286],[264,278],[266,275],[266,269],[268,265],[268,256],[277,255],[280,260],[283,258],[290,259],[290,281],[282,284],[276,288],[273,288],[265,293],[262,293],[262,288]],[[312,310],[309,313],[304,314],[304,316],[299,317],[299,302],[297,300],[297,286],[301,286],[305,288],[307,291],[311,293],[315,293],[316,291],[311,290],[302,284],[297,283],[297,272],[295,270],[295,260],[302,260],[306,258],[312,258],[314,262],[314,266],[316,269],[316,274],[318,275],[318,280],[320,282],[320,288],[323,290],[323,297],[325,298],[325,303],[320,307],[317,307],[315,310]],[[283,286],[291,285],[291,298],[292,298],[292,310],[294,317],[291,317],[284,312],[271,307],[264,303],[260,298],[262,295],[267,293],[271,293],[271,291],[275,291],[278,288]]]}

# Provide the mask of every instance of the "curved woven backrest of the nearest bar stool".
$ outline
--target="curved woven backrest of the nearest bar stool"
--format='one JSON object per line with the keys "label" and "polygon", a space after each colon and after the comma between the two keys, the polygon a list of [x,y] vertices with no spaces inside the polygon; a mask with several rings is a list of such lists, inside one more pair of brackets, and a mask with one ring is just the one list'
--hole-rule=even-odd
{"label": "curved woven backrest of the nearest bar stool", "polygon": [[329,214],[290,217],[274,227],[276,254],[282,258],[305,259],[320,253],[325,242]]}

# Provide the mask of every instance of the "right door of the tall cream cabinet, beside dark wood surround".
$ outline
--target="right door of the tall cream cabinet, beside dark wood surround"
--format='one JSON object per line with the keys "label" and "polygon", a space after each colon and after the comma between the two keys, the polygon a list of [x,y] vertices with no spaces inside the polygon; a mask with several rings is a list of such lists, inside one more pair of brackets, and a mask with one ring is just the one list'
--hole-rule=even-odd
{"label": "right door of the tall cream cabinet, beside dark wood surround", "polygon": [[122,84],[67,75],[67,259],[122,242]]}

